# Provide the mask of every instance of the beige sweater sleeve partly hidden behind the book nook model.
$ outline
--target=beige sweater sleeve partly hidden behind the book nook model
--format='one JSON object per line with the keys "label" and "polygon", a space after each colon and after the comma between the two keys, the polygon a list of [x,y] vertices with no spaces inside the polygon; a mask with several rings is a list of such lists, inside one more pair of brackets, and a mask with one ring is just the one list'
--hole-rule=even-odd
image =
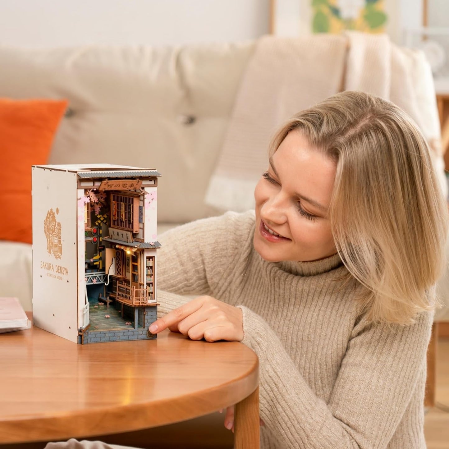
{"label": "beige sweater sleeve partly hidden behind the book nook model", "polygon": [[228,288],[241,248],[254,225],[254,212],[227,212],[163,233],[157,260],[158,316],[194,296],[220,299]]}

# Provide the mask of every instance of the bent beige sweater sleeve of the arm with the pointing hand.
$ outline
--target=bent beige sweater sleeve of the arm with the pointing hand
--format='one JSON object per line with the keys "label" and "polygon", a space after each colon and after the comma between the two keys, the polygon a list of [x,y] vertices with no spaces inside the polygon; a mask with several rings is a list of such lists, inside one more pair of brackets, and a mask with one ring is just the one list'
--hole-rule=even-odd
{"label": "bent beige sweater sleeve of the arm with the pointing hand", "polygon": [[[420,314],[410,326],[371,325],[362,319],[352,331],[326,404],[268,324],[238,307],[243,313],[242,343],[260,360],[260,417],[282,447],[387,447],[426,367],[431,313]],[[418,429],[416,433],[418,437]]]}

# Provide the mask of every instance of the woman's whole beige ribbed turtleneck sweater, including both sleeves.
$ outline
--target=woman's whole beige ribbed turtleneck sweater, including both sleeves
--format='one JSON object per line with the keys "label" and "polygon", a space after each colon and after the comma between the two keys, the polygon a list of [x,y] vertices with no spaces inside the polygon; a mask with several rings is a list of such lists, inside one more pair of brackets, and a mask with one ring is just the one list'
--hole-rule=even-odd
{"label": "woman's whole beige ribbed turtleneck sweater, including both sleeves", "polygon": [[[261,447],[425,448],[423,400],[432,314],[372,325],[338,255],[272,263],[253,247],[254,212],[160,236],[159,315],[211,295],[242,309],[260,360]],[[211,343],[213,344],[213,343]]]}

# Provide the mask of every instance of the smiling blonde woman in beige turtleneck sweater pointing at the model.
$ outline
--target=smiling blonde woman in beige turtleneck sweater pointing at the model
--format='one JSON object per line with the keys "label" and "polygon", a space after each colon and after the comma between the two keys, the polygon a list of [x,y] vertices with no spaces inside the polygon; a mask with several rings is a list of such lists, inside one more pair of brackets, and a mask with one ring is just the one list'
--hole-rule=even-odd
{"label": "smiling blonde woman in beige turtleneck sweater pointing at the model", "polygon": [[255,214],[161,236],[167,315],[150,330],[257,353],[263,448],[425,448],[446,213],[414,123],[388,101],[340,93],[277,132]]}

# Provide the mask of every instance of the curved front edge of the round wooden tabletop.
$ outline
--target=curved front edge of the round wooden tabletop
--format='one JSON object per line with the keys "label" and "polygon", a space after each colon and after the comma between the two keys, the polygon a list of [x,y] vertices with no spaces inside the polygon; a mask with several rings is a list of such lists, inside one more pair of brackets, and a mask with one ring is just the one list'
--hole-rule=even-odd
{"label": "curved front edge of the round wooden tabletop", "polygon": [[[70,415],[4,420],[0,422],[1,444],[57,441],[138,431],[213,413],[220,408],[244,401],[259,387],[259,360],[255,353],[254,356],[255,363],[247,374],[220,385],[220,387],[211,387],[201,392],[179,396],[175,400],[170,398],[152,402],[151,405],[148,402],[142,402],[119,405],[114,408],[83,410],[70,413]],[[234,390],[231,394],[229,391],[223,391],[229,389],[229,384],[232,384]],[[211,392],[211,390],[215,391]],[[224,393],[226,393],[226,397],[223,396]],[[198,409],[197,404],[194,411],[184,413],[182,418],[179,418],[179,410],[188,410],[188,403],[193,400],[203,406]],[[164,410],[164,412],[158,413],[158,410]],[[133,416],[132,422],[129,421],[129,414]],[[173,416],[177,418],[172,418]],[[39,429],[39,431],[34,433],[34,429]],[[43,431],[43,429],[45,430]]]}

